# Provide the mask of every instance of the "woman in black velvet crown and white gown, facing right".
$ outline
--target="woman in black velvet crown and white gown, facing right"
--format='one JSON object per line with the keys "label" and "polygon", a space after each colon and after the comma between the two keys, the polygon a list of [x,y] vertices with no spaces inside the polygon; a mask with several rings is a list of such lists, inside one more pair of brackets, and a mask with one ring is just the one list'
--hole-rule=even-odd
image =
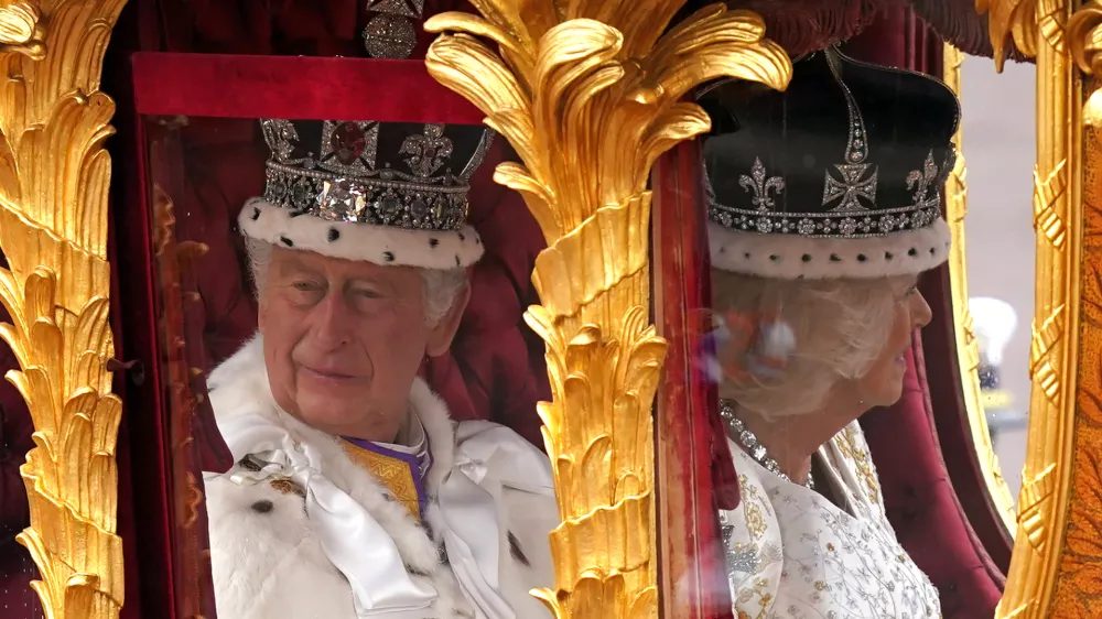
{"label": "woman in black velvet crown and white gown, facing right", "polygon": [[[940,185],[959,106],[941,83],[834,50],[786,93],[706,96],[714,307],[755,325],[721,347],[742,490],[721,513],[738,617],[939,617],[896,540],[856,420],[901,395],[918,275],[950,235]],[[752,319],[747,321],[747,317]]]}

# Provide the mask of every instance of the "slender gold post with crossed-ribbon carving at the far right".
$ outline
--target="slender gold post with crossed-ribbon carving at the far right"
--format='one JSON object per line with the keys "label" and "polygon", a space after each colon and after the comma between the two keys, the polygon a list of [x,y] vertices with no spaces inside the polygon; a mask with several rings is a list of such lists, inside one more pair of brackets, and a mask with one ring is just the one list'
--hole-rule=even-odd
{"label": "slender gold post with crossed-ribbon carving at the far right", "polygon": [[[1069,0],[980,0],[977,4],[991,11],[991,39],[1000,68],[1008,36],[1020,52],[1037,61],[1033,199],[1037,269],[1029,354],[1033,389],[1018,528],[997,617],[1078,617],[1054,613],[1051,608],[1076,467],[1083,258],[1081,86],[1065,33],[1072,6]],[[1082,617],[1088,616],[1093,615]]]}

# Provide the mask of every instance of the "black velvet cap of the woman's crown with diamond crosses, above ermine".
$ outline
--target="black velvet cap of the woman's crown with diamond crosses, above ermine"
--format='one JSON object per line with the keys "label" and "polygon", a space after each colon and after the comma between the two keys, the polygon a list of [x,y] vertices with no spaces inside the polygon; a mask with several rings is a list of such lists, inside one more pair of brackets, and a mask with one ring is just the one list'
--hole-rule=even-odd
{"label": "black velvet cap of the woman's crown with diamond crosses, above ermine", "polygon": [[830,48],[796,63],[786,91],[728,82],[699,102],[709,216],[724,228],[861,238],[940,217],[960,104],[934,78]]}

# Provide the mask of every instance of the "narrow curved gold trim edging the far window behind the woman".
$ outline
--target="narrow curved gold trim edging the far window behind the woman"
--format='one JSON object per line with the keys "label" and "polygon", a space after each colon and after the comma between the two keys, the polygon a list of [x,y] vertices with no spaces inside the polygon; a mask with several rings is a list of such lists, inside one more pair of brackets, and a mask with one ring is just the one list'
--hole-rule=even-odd
{"label": "narrow curved gold trim edging the far window behind the woman", "polygon": [[[946,84],[961,94],[961,64],[964,54],[946,44],[942,58],[943,78]],[[946,220],[953,235],[953,245],[949,250],[949,280],[953,302],[953,330],[957,337],[957,362],[961,369],[961,393],[964,397],[964,410],[968,413],[969,427],[972,431],[972,445],[975,447],[980,471],[984,485],[991,496],[995,510],[1002,517],[1006,530],[1014,535],[1015,522],[1014,497],[1003,479],[998,466],[998,456],[991,444],[991,432],[987,430],[984,394],[980,390],[980,349],[972,330],[972,314],[969,312],[968,294],[968,256],[964,238],[964,216],[968,215],[968,185],[965,184],[966,167],[963,146],[963,123],[957,129],[953,141],[957,143],[957,164],[952,174],[946,181]]]}

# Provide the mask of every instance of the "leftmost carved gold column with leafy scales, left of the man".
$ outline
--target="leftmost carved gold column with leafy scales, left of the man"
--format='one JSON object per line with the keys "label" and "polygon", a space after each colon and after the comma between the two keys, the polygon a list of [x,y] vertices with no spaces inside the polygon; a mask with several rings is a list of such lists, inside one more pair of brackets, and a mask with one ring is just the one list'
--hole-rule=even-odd
{"label": "leftmost carved gold column with leafy scales, left of the man", "polygon": [[118,617],[116,437],[121,402],[106,362],[107,189],[104,140],[115,112],[99,91],[104,52],[126,0],[0,1],[0,302],[2,337],[35,447],[20,471],[31,528],[19,541],[48,618]]}

